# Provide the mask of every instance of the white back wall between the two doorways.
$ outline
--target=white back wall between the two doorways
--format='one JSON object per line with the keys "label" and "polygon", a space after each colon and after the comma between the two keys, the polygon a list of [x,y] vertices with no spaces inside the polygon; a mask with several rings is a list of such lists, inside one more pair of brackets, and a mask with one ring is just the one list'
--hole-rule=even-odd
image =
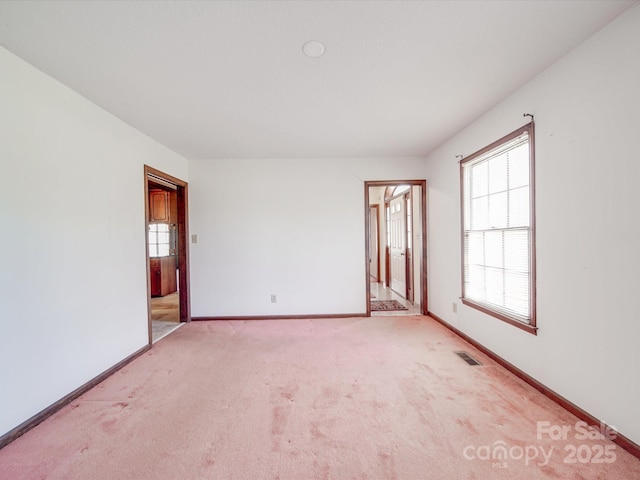
{"label": "white back wall between the two doorways", "polygon": [[364,182],[423,175],[414,158],[190,160],[192,315],[364,313]]}

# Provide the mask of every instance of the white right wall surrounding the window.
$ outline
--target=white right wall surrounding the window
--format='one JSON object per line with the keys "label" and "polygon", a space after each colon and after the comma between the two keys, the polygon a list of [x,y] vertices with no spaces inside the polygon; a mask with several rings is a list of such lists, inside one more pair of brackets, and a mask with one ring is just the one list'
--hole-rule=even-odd
{"label": "white right wall surrounding the window", "polygon": [[[427,159],[430,310],[636,443],[639,49],[633,8]],[[536,118],[538,336],[457,300],[455,155],[523,125],[525,112]]]}

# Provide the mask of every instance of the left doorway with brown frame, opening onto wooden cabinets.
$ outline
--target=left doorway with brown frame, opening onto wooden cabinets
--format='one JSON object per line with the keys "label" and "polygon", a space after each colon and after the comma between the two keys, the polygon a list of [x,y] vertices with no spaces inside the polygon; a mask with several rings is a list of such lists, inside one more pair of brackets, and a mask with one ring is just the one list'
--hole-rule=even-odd
{"label": "left doorway with brown frame, opening onto wooden cabinets", "polygon": [[191,321],[188,184],[144,166],[149,344]]}

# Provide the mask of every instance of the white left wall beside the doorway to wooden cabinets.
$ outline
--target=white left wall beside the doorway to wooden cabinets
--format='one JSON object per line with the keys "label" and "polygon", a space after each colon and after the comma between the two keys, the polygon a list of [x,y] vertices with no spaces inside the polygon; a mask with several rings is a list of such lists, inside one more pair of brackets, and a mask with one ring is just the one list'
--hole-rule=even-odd
{"label": "white left wall beside the doorway to wooden cabinets", "polygon": [[0,48],[0,435],[148,342],[144,174],[186,160]]}

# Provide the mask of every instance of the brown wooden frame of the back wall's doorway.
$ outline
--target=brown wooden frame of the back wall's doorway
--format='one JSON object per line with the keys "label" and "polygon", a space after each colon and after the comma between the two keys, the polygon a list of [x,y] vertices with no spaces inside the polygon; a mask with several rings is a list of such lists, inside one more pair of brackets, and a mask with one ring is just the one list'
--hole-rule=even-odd
{"label": "brown wooden frame of the back wall's doorway", "polygon": [[[418,186],[420,189],[420,224],[422,245],[420,246],[420,310],[422,315],[429,311],[429,297],[427,289],[427,181],[426,180],[374,180],[364,182],[364,231],[365,231],[365,279],[367,317],[371,316],[371,283],[369,266],[369,188],[392,187],[398,185]],[[413,242],[412,242],[413,244]],[[416,252],[414,245],[414,254]],[[415,285],[414,285],[415,288]]]}

